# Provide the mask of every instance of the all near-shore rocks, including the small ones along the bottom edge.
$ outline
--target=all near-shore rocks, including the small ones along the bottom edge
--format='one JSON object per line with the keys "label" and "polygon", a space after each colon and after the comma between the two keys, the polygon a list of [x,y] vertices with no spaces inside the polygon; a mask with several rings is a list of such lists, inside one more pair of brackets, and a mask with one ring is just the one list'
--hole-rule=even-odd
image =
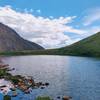
{"label": "all near-shore rocks, including the small ones along the bottom edge", "polygon": [[[15,68],[10,69],[8,64],[0,64],[0,93],[4,95],[4,100],[11,100],[11,97],[17,97],[19,93],[17,90],[22,91],[24,94],[30,94],[33,89],[44,89],[49,86],[49,83],[35,82],[32,76],[21,76],[12,75],[10,71],[15,70]],[[4,84],[6,83],[6,84]],[[8,95],[11,91],[12,95]],[[56,100],[70,100],[69,96],[58,96]],[[39,96],[36,100],[53,100],[49,96]]]}

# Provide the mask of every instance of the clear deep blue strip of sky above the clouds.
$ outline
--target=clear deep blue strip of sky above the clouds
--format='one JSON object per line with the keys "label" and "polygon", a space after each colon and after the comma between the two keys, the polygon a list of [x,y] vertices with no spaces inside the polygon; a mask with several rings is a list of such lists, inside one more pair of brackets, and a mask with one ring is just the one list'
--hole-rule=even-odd
{"label": "clear deep blue strip of sky above the clouds", "polygon": [[99,7],[100,0],[0,0],[0,5],[11,5],[14,9],[40,9],[42,16],[80,16],[84,11]]}

